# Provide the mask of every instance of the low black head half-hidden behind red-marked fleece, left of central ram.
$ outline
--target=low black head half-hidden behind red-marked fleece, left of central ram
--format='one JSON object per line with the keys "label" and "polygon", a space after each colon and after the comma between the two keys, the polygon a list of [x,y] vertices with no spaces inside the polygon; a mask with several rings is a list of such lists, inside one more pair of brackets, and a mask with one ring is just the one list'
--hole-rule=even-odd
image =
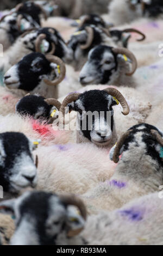
{"label": "low black head half-hidden behind red-marked fleece, left of central ram", "polygon": [[45,98],[38,95],[24,96],[16,104],[16,112],[18,114],[23,116],[29,115],[30,117],[39,120],[48,120],[54,110],[55,116],[53,116],[53,118],[58,116],[59,109],[55,106],[48,105],[45,102]]}

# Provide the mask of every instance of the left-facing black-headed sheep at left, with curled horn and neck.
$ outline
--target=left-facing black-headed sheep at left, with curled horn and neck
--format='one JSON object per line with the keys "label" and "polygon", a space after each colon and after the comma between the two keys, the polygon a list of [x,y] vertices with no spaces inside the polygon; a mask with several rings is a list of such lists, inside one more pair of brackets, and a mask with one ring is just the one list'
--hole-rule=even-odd
{"label": "left-facing black-headed sheep at left, with curled horn and neck", "polygon": [[23,57],[5,73],[4,84],[19,96],[30,92],[57,98],[58,84],[65,74],[65,64],[60,58],[35,52]]}

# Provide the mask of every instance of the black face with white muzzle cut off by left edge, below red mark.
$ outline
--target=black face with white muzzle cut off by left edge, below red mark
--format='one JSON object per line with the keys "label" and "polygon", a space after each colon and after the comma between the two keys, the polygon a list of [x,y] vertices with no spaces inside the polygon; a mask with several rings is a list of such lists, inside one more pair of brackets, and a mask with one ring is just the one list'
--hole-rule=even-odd
{"label": "black face with white muzzle cut off by left edge, below red mark", "polygon": [[36,167],[32,151],[35,145],[23,133],[0,134],[0,184],[4,192],[18,193],[36,185]]}

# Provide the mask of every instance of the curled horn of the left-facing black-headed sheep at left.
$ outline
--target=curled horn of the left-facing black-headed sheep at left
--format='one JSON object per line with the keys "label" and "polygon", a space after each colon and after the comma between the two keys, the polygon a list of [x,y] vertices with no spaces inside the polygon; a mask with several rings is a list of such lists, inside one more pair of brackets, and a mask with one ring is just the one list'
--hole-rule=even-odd
{"label": "curled horn of the left-facing black-headed sheep at left", "polygon": [[49,62],[55,63],[59,66],[60,74],[59,77],[54,78],[53,81],[45,79],[44,82],[48,84],[48,86],[57,86],[57,84],[59,84],[65,78],[66,66],[64,62],[62,62],[62,60],[57,56],[46,55],[46,58],[49,60]]}

